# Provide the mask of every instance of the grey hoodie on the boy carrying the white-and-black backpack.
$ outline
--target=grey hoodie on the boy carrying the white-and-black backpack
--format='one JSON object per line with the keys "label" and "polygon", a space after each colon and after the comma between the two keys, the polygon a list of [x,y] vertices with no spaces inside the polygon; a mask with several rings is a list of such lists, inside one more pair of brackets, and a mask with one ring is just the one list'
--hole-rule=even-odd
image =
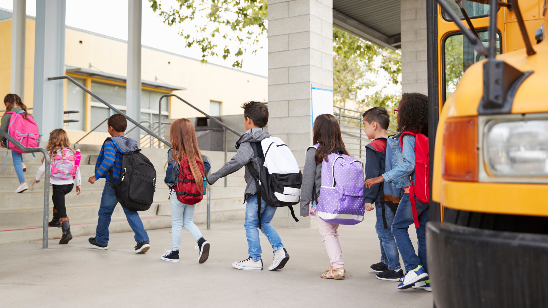
{"label": "grey hoodie on the boy carrying the white-and-black backpack", "polygon": [[244,193],[244,203],[246,203],[247,196],[255,195],[257,192],[255,187],[255,180],[253,176],[249,173],[246,164],[253,160],[253,166],[255,170],[260,170],[261,166],[259,159],[253,159],[255,157],[255,152],[249,142],[261,142],[262,139],[269,138],[270,134],[265,132],[262,128],[254,127],[248,129],[245,134],[236,142],[238,146],[238,152],[232,157],[230,162],[227,162],[225,166],[222,166],[217,172],[210,174],[207,178],[209,184],[214,184],[218,179],[223,178],[231,173],[235,173],[240,168],[246,168],[246,173],[244,174],[244,179],[246,179],[246,192]]}

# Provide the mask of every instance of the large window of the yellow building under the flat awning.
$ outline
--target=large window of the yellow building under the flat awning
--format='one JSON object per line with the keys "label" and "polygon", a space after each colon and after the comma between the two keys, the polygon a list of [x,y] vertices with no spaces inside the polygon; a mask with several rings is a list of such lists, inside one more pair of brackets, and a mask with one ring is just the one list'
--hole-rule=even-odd
{"label": "large window of the yellow building under the flat awning", "polygon": [[[120,111],[125,112],[127,110],[125,105],[125,87],[123,85],[92,82],[92,92]],[[141,90],[141,122],[152,122],[152,129],[158,129],[158,102],[160,97],[164,94],[165,93],[151,90]],[[113,112],[109,110],[108,107],[95,98],[92,98],[92,129],[111,115],[113,115]],[[169,100],[164,98],[162,99],[162,121],[165,121],[168,118]],[[156,123],[154,123],[155,121]],[[142,123],[142,125],[151,129],[149,122]],[[132,128],[133,124],[128,125],[128,127]],[[106,132],[106,122],[95,131]],[[141,132],[141,134],[142,133],[144,132]]]}

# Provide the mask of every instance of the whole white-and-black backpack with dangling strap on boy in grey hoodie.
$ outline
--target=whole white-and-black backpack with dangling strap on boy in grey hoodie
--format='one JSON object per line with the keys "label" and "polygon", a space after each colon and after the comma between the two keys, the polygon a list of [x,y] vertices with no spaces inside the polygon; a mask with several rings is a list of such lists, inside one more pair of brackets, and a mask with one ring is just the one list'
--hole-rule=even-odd
{"label": "whole white-and-black backpack with dangling strap on boy in grey hoodie", "polygon": [[292,207],[300,201],[302,184],[302,173],[295,156],[282,139],[277,137],[249,143],[255,152],[255,157],[260,158],[261,166],[261,169],[257,171],[253,167],[253,161],[247,164],[257,190],[259,227],[261,227],[260,198],[271,207],[289,207],[293,219],[299,221]]}

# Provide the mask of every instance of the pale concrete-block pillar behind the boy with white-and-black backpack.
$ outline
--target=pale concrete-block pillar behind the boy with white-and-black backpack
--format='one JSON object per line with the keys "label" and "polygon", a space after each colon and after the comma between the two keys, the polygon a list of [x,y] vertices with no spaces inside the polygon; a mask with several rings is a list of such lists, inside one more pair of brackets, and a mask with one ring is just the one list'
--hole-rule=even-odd
{"label": "pale concrete-block pillar behind the boy with white-and-black backpack", "polygon": [[[333,0],[269,1],[269,133],[286,141],[299,166],[312,145],[311,87],[333,89]],[[273,225],[311,227],[315,219],[295,223],[279,208]]]}

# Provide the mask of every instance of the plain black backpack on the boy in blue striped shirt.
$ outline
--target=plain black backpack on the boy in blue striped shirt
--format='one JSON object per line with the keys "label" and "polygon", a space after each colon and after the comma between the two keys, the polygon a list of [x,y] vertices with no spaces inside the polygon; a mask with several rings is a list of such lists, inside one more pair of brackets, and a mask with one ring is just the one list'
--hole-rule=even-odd
{"label": "plain black backpack on the boy in blue striped shirt", "polygon": [[115,182],[112,168],[109,170],[110,187],[116,192],[116,199],[124,208],[134,211],[147,210],[156,191],[156,169],[141,149],[122,154],[122,171]]}

